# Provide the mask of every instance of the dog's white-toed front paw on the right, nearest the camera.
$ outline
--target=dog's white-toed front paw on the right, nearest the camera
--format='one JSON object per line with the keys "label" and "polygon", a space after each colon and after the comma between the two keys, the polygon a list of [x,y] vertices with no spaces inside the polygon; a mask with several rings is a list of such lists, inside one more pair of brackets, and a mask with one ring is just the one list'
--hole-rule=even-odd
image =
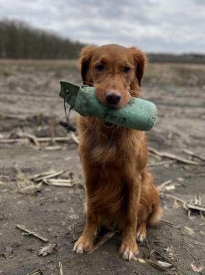
{"label": "dog's white-toed front paw on the right, nearest the camera", "polygon": [[119,250],[123,259],[131,261],[138,254],[138,246],[136,241],[123,241]]}

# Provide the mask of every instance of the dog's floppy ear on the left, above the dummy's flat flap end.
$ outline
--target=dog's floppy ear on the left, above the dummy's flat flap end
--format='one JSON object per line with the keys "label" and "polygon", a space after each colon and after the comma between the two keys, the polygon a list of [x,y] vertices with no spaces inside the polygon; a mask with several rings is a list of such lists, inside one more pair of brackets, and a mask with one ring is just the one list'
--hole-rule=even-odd
{"label": "dog's floppy ear on the left, above the dummy's flat flap end", "polygon": [[89,69],[91,57],[93,56],[93,53],[95,52],[96,48],[97,47],[95,46],[87,46],[87,47],[84,47],[80,52],[79,63],[80,63],[80,71],[81,71],[83,85],[86,85],[86,81],[88,81],[88,79],[86,78],[86,74]]}

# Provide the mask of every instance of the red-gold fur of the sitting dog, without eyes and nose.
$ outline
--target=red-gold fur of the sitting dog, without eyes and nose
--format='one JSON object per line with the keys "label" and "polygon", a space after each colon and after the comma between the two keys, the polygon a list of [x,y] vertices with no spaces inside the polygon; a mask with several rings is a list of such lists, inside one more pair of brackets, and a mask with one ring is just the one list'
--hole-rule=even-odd
{"label": "red-gold fur of the sitting dog, without eyes and nose", "polygon": [[[103,64],[103,69],[97,65]],[[118,91],[122,107],[130,94],[138,97],[145,67],[145,54],[132,47],[104,45],[85,47],[80,57],[84,84],[96,87],[97,98],[106,102],[106,91]],[[124,68],[129,67],[128,72]],[[86,225],[74,245],[77,253],[91,250],[101,225],[123,232],[120,253],[132,259],[138,253],[136,237],[143,241],[146,226],[160,220],[158,189],[147,171],[145,133],[122,126],[106,127],[98,118],[80,116],[80,158],[86,188]]]}

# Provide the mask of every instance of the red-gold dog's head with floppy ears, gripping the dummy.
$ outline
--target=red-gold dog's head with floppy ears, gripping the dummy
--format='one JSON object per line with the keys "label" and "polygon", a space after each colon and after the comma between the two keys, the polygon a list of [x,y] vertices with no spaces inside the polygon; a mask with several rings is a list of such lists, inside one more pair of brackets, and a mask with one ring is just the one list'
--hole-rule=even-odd
{"label": "red-gold dog's head with floppy ears, gripping the dummy", "polygon": [[101,103],[123,107],[130,94],[138,96],[145,60],[145,54],[135,47],[112,44],[84,47],[80,55],[83,83],[96,88]]}

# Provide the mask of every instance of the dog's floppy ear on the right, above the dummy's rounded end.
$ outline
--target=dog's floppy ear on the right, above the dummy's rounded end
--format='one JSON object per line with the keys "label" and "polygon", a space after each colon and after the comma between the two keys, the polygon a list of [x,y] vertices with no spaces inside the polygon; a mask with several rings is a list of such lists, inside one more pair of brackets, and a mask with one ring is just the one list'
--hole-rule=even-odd
{"label": "dog's floppy ear on the right, above the dummy's rounded end", "polygon": [[130,51],[132,52],[132,56],[135,61],[136,78],[138,80],[138,85],[141,86],[141,80],[143,78],[147,57],[143,52],[141,52],[141,50],[138,50],[136,47],[130,47]]}

